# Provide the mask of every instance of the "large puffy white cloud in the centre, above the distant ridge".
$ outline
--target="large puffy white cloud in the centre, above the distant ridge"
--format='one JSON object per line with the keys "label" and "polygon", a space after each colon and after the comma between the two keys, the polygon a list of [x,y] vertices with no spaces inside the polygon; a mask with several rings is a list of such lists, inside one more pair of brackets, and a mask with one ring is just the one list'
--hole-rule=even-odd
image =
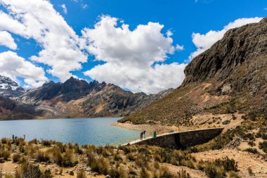
{"label": "large puffy white cloud in the centre, above the distant ridge", "polygon": [[110,82],[131,89],[157,93],[170,87],[178,87],[183,81],[185,64],[157,64],[164,62],[181,46],[172,45],[171,32],[162,34],[159,23],[117,26],[117,18],[103,16],[93,29],[82,31],[84,48],[98,61],[105,61],[84,72],[95,80]]}

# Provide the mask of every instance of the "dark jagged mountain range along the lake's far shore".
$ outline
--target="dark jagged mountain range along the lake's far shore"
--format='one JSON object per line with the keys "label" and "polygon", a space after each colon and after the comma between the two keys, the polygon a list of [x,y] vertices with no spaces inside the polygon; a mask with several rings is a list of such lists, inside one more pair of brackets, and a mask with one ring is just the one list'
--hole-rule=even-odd
{"label": "dark jagged mountain range along the lake's far shore", "polygon": [[133,94],[115,84],[88,83],[71,77],[64,83],[47,82],[42,87],[16,95],[0,95],[0,118],[16,119],[20,115],[24,119],[125,116],[145,108],[173,90],[150,95]]}

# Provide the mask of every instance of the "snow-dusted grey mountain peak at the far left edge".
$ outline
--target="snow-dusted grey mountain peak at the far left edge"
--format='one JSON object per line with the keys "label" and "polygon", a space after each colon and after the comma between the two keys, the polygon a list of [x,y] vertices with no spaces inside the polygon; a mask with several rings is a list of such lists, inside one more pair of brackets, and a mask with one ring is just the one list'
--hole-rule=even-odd
{"label": "snow-dusted grey mountain peak at the far left edge", "polygon": [[1,96],[20,96],[25,93],[25,89],[18,86],[16,82],[8,77],[0,75],[0,95]]}

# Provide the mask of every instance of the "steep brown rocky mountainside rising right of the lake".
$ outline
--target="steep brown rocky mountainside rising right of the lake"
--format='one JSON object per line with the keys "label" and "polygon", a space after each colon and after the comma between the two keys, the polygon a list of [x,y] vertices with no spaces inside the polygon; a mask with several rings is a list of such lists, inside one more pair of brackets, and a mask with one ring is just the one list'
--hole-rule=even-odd
{"label": "steep brown rocky mountainside rising right of the lake", "polygon": [[200,113],[267,113],[267,18],[228,30],[168,96],[120,122],[185,124]]}

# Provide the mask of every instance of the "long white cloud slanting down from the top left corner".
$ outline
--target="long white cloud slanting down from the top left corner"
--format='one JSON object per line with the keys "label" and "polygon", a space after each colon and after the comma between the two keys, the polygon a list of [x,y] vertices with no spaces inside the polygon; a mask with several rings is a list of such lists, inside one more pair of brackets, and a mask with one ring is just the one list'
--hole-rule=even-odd
{"label": "long white cloud slanting down from the top left corner", "polygon": [[80,70],[87,56],[79,49],[79,37],[46,0],[0,0],[8,13],[0,11],[0,30],[34,39],[42,48],[30,59],[51,67],[47,72],[62,82]]}

